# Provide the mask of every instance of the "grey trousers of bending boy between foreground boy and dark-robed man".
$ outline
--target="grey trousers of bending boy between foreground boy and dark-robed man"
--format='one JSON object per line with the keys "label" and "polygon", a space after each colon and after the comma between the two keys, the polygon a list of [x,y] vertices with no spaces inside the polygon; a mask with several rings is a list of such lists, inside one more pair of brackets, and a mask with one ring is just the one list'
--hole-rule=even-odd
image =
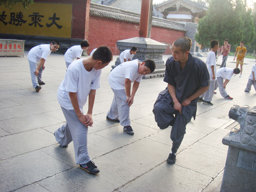
{"label": "grey trousers of bending boy between foreground boy and dark-robed man", "polygon": [[126,101],[126,93],[125,89],[112,89],[114,92],[114,98],[112,104],[110,106],[110,110],[107,115],[110,119],[118,119],[120,120],[120,124],[122,126],[131,125],[130,121],[130,107],[128,106]]}

